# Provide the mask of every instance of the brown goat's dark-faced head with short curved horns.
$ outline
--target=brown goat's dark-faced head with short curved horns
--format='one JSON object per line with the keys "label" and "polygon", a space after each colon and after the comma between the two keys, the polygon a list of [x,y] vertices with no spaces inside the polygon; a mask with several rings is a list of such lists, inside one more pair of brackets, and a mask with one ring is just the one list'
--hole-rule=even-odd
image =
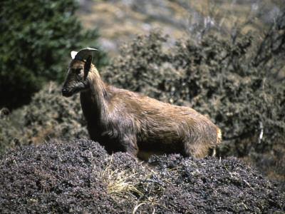
{"label": "brown goat's dark-faced head with short curved horns", "polygon": [[86,60],[84,58],[90,51],[97,50],[87,48],[79,52],[71,51],[72,61],[68,68],[66,81],[63,84],[63,96],[72,96],[74,93],[89,88],[87,76],[92,64],[92,55],[89,55]]}

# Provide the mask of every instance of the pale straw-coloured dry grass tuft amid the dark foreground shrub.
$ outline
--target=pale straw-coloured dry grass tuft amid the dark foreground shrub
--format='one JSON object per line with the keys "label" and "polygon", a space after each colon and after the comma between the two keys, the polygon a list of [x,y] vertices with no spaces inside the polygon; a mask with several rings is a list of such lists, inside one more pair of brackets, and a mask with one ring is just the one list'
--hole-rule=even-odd
{"label": "pale straw-coloured dry grass tuft amid the dark foreground shrub", "polygon": [[110,161],[105,168],[93,167],[95,175],[105,183],[108,194],[132,200],[135,203],[133,213],[140,212],[139,208],[143,206],[163,206],[157,200],[164,190],[159,175],[147,165],[140,166],[140,171],[138,168],[136,170],[135,168],[125,169],[123,166],[118,168],[118,165],[113,163],[113,156],[110,156]]}

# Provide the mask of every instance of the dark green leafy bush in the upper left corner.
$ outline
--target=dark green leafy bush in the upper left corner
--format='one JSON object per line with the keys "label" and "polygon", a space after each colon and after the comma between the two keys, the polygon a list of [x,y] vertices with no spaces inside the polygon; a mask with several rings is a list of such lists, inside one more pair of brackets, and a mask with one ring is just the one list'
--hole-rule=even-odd
{"label": "dark green leafy bush in the upper left corner", "polygon": [[[46,81],[63,81],[72,49],[98,46],[98,29],[83,30],[76,0],[0,2],[0,108],[17,108]],[[100,67],[105,54],[95,56]]]}

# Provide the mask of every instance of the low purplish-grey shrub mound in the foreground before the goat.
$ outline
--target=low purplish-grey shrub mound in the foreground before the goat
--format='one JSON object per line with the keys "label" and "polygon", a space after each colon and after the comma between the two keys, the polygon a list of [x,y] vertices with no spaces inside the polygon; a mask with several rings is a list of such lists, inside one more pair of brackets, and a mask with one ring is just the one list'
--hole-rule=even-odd
{"label": "low purplish-grey shrub mound in the foreground before the goat", "polygon": [[[109,156],[85,139],[21,146],[1,156],[0,213],[285,211],[281,189],[236,158],[171,155],[150,163],[155,166],[126,153]],[[123,176],[133,189],[110,191],[110,182]]]}

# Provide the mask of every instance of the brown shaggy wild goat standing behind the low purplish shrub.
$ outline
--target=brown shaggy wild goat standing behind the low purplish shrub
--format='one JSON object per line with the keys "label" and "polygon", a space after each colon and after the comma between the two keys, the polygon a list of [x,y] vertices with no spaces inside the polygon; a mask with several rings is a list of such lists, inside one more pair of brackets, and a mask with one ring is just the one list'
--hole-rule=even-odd
{"label": "brown shaggy wild goat standing behind the low purplish shrub", "polygon": [[219,146],[221,131],[192,108],[162,103],[105,84],[93,66],[96,49],[72,51],[63,96],[81,93],[90,138],[108,153],[128,152],[142,160],[152,154],[180,153],[202,158]]}

